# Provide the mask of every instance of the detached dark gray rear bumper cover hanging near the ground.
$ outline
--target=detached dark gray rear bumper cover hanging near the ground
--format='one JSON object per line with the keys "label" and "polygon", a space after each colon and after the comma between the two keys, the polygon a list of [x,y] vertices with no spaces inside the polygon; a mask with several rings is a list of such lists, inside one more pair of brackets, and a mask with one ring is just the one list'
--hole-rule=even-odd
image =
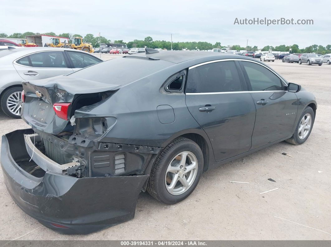
{"label": "detached dark gray rear bumper cover hanging near the ground", "polygon": [[20,147],[25,147],[24,134],[31,133],[17,130],[2,136],[0,160],[8,192],[26,214],[67,234],[88,234],[134,217],[148,175],[74,178],[47,171],[34,177],[13,159],[13,152],[26,152]]}

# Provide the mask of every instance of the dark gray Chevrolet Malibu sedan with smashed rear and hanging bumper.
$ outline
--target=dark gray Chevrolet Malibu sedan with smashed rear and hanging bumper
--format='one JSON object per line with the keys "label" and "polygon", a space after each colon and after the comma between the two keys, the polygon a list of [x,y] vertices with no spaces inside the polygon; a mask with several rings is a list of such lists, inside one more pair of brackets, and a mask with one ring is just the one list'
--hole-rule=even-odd
{"label": "dark gray Chevrolet Malibu sedan with smashed rear and hanging bumper", "polygon": [[174,204],[203,171],[302,144],[317,108],[262,62],[202,51],[147,48],[23,88],[31,129],[2,137],[5,183],[24,212],[62,233],[132,219],[141,191]]}

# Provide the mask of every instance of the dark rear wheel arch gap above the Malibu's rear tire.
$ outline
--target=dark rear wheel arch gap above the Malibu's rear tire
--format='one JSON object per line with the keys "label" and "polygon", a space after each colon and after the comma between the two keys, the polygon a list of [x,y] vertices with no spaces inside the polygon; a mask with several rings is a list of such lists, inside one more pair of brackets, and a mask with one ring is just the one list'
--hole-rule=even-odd
{"label": "dark rear wheel arch gap above the Malibu's rear tire", "polygon": [[179,131],[173,134],[171,137],[166,139],[166,141],[162,144],[163,147],[166,147],[171,141],[178,137],[184,137],[196,142],[204,156],[204,171],[208,170],[209,163],[213,162],[214,154],[212,144],[207,136],[207,134],[203,130],[199,129],[187,129]]}

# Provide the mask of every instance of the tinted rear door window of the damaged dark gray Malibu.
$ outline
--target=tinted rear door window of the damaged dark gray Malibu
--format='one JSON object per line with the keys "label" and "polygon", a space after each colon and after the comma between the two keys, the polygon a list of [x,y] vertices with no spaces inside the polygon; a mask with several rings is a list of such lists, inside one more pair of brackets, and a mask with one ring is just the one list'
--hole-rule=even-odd
{"label": "tinted rear door window of the damaged dark gray Malibu", "polygon": [[234,61],[205,64],[188,72],[186,93],[242,91]]}

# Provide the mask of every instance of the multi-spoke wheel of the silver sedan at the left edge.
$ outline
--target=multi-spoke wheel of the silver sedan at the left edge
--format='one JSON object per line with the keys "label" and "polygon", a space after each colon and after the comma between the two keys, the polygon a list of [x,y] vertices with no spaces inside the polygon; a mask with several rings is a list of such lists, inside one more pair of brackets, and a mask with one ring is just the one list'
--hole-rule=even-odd
{"label": "multi-spoke wheel of the silver sedan at the left edge", "polygon": [[[21,108],[22,108],[22,100],[18,99],[19,95],[22,94],[22,87],[11,87],[6,89],[1,96],[1,109],[6,115],[13,118],[21,118]],[[9,99],[11,98],[11,100]],[[7,105],[7,100],[9,100],[9,106]],[[16,101],[17,100],[17,101]],[[15,107],[15,103],[17,103]],[[11,107],[12,106],[12,107]],[[18,115],[14,114],[18,110]]]}

